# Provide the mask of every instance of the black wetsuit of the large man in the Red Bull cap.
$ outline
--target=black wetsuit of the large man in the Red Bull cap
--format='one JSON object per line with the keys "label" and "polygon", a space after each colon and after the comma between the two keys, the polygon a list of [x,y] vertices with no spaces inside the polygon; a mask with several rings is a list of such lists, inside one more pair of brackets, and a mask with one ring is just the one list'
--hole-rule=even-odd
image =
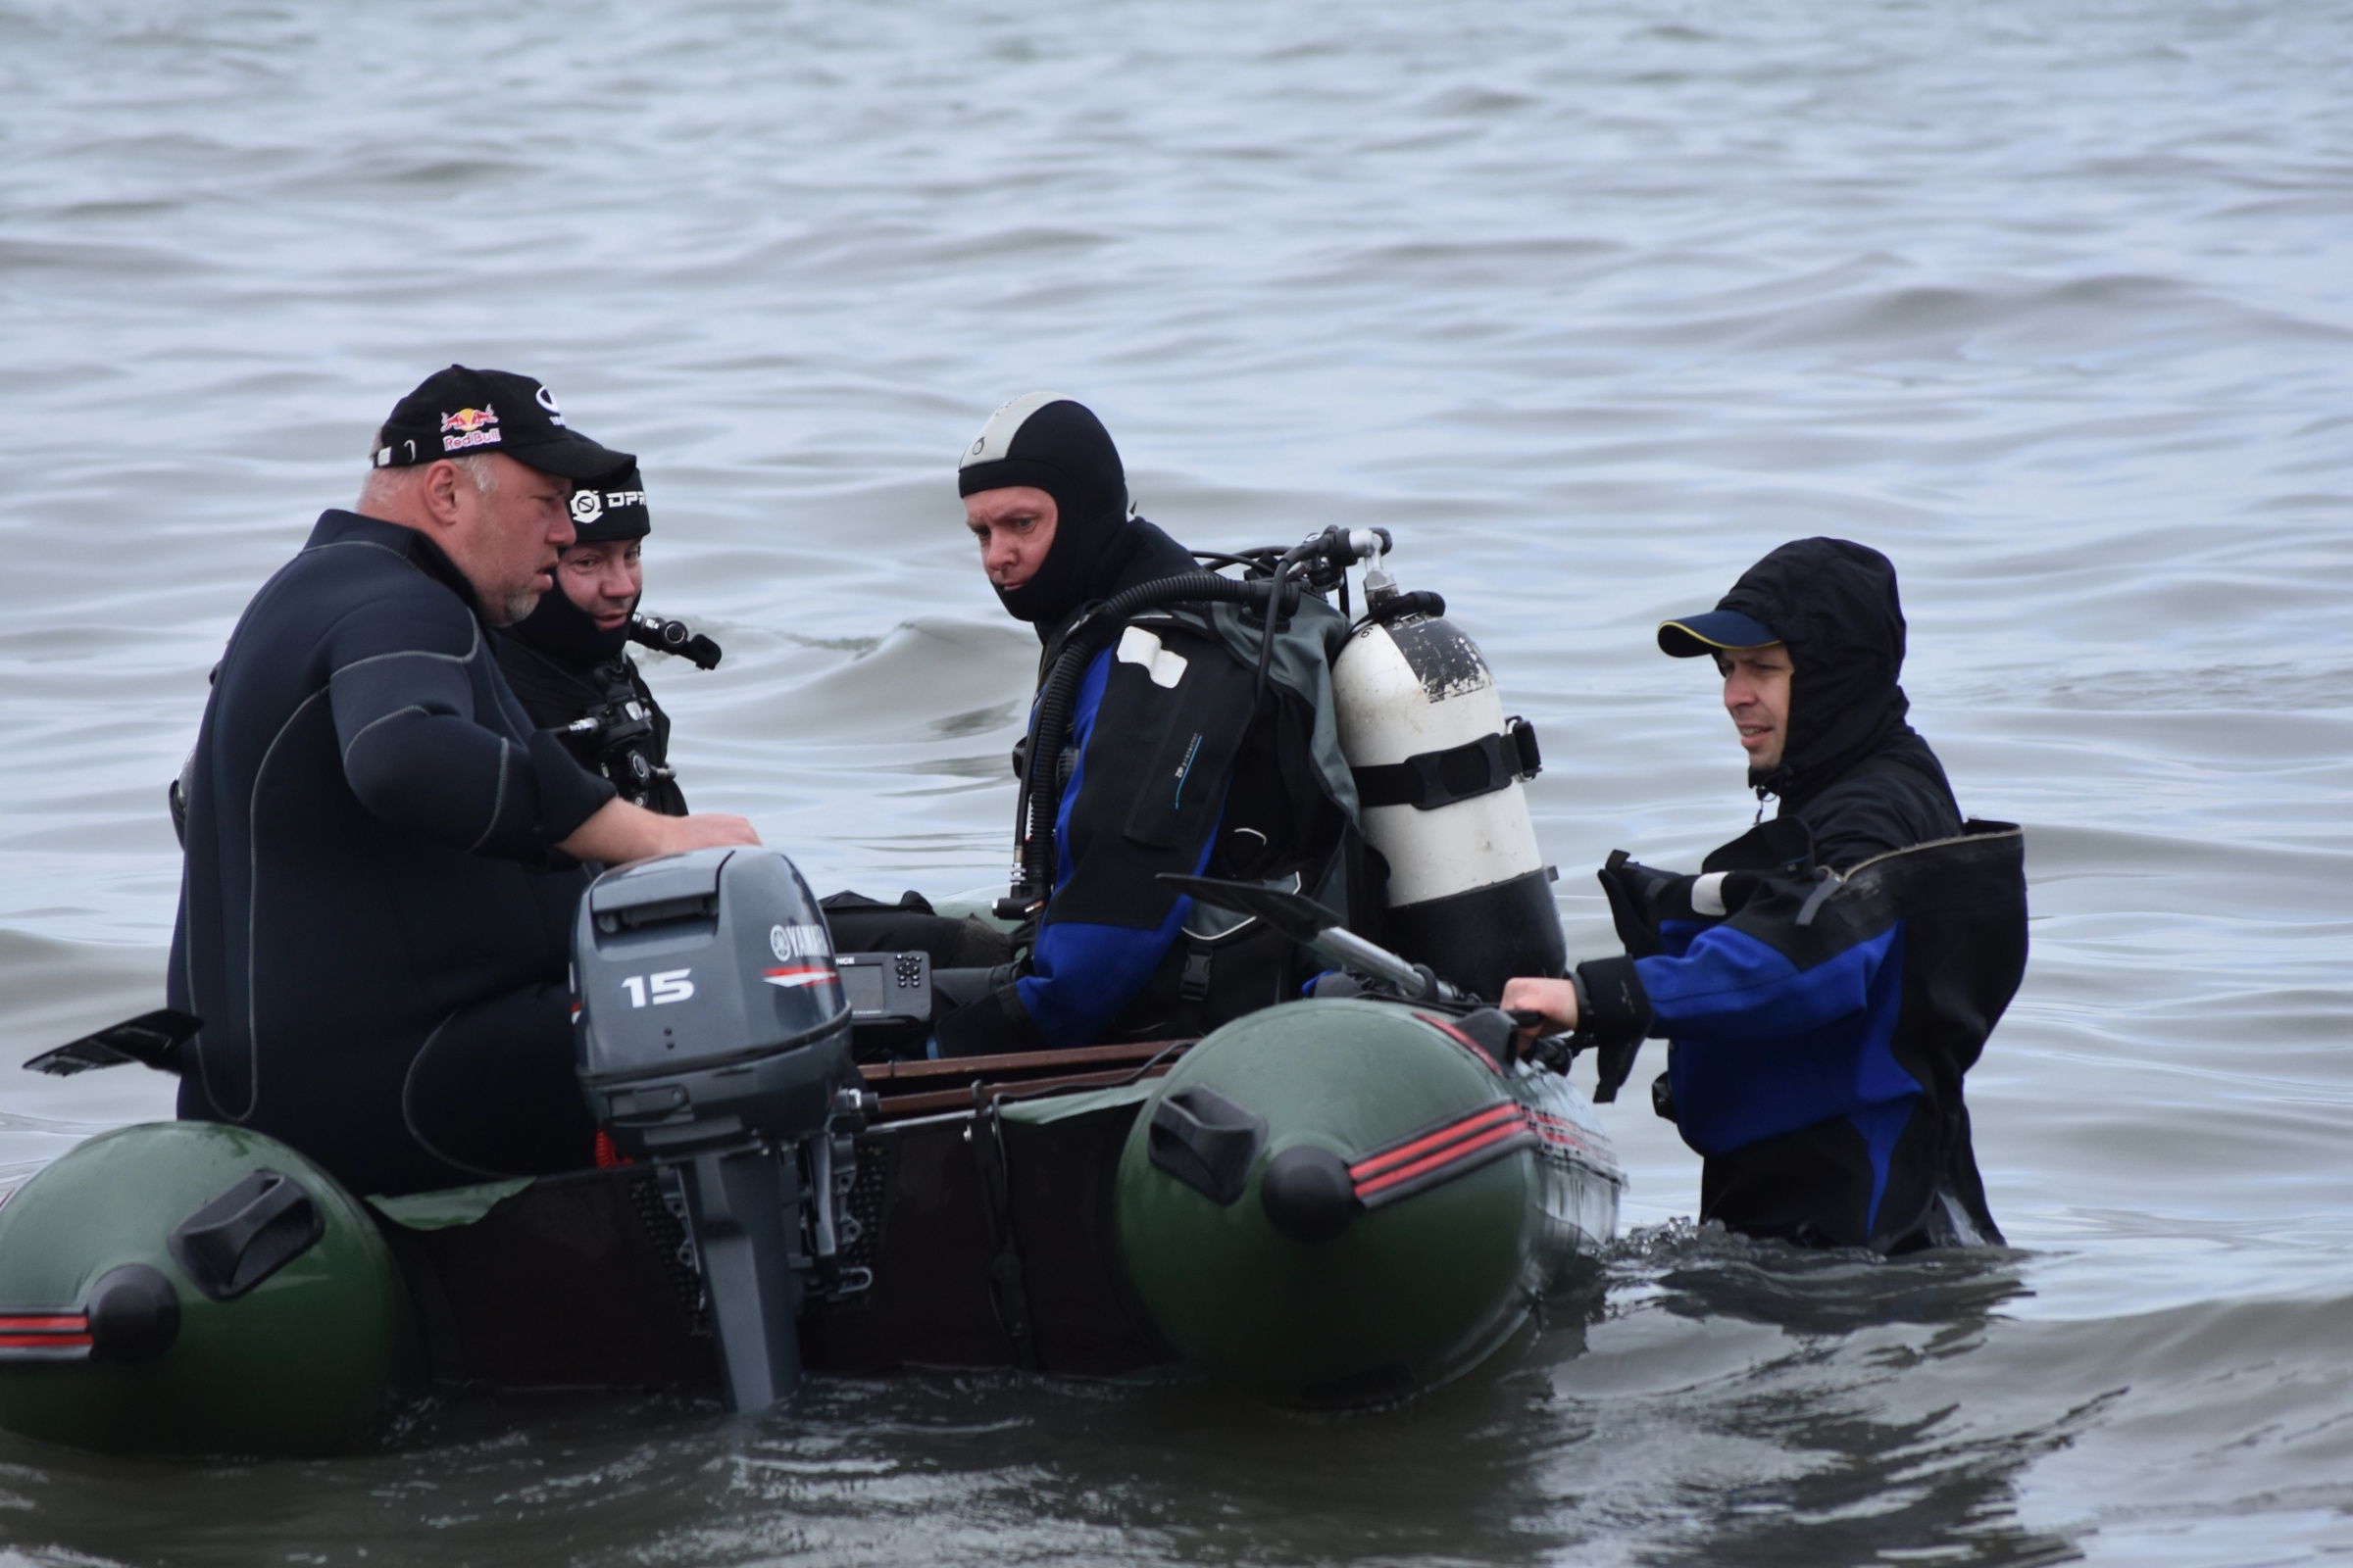
{"label": "black wetsuit of the large man in the Red Bull cap", "polygon": [[353,1192],[586,1166],[565,964],[614,790],[508,691],[466,578],[325,512],[247,604],[191,764],[169,1001],[179,1114]]}

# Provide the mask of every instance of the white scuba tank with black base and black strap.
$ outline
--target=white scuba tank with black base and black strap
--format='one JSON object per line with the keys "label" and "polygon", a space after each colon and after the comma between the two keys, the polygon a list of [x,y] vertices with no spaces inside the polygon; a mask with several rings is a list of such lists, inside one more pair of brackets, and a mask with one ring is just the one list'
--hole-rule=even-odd
{"label": "white scuba tank with black base and black strap", "polygon": [[1332,665],[1339,745],[1365,839],[1388,860],[1388,943],[1501,997],[1511,976],[1567,964],[1527,813],[1541,755],[1445,611],[1435,592],[1398,592],[1381,564],[1365,574],[1365,618]]}

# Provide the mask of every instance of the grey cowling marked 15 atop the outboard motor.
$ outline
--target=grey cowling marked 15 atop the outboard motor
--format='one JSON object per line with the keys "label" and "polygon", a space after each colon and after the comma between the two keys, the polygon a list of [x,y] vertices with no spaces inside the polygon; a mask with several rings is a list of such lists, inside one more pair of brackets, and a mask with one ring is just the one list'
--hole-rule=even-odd
{"label": "grey cowling marked 15 atop the outboard motor", "polygon": [[588,1110],[626,1157],[824,1131],[849,1001],[809,884],[772,849],[605,872],[572,945]]}

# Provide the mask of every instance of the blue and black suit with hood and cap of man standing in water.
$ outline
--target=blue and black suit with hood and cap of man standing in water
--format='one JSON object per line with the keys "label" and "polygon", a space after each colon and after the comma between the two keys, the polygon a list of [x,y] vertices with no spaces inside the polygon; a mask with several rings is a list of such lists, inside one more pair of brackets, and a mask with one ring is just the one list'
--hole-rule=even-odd
{"label": "blue and black suit with hood and cap of man standing in water", "polygon": [[[1668,1039],[1652,1095],[1706,1157],[1701,1220],[1880,1253],[2000,1241],[1962,1074],[2026,971],[2021,835],[1965,823],[1904,719],[1887,557],[1795,541],[1692,625],[1725,611],[1788,646],[1784,759],[1751,776],[1781,811],[1697,877],[1609,858],[1626,957],[1577,969],[1598,1098]],[[1708,651],[1678,623],[1659,642]]]}

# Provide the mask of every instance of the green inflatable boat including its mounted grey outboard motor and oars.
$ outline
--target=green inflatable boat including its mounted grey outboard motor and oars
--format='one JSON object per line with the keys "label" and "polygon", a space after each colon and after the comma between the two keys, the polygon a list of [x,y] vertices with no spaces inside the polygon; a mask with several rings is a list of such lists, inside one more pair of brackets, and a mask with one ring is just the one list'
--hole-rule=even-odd
{"label": "green inflatable boat including its mounted grey outboard motor and oars", "polygon": [[[428,1387],[755,1410],[802,1368],[1191,1363],[1287,1406],[1407,1399],[1614,1234],[1624,1175],[1558,1048],[1532,1060],[1504,1013],[1292,905],[1259,917],[1311,910],[1301,940],[1362,978],[1327,990],[1360,994],[1200,1041],[856,1065],[864,954],[765,983],[772,929],[821,922],[784,856],[607,872],[574,952],[612,1164],[384,1199],[233,1126],[92,1138],[0,1204],[0,1429],[320,1455]],[[711,1011],[633,1058],[649,950]]]}

